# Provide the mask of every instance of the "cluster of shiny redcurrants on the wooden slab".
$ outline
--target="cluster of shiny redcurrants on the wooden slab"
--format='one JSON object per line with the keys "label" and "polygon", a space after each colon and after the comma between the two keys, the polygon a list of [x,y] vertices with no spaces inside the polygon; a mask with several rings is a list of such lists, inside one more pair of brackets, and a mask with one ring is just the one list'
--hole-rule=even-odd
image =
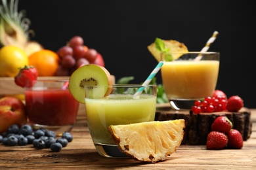
{"label": "cluster of shiny redcurrants on the wooden slab", "polygon": [[221,112],[226,110],[226,103],[225,96],[205,97],[203,101],[195,101],[192,111],[196,114],[201,112]]}

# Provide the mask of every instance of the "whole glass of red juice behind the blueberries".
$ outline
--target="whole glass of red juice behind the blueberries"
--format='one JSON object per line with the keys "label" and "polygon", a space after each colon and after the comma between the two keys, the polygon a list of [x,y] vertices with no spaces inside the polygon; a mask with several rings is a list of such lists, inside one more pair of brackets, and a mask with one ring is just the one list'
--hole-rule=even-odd
{"label": "whole glass of red juice behind the blueberries", "polygon": [[34,128],[44,127],[56,135],[74,126],[79,103],[67,86],[68,80],[37,80],[25,88],[26,114]]}

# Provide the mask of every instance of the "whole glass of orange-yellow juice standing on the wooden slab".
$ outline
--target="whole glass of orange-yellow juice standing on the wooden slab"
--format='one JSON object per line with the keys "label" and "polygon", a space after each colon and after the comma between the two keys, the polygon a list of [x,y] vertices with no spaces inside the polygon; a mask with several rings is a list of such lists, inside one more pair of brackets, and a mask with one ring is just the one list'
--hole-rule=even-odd
{"label": "whole glass of orange-yellow juice standing on the wooden slab", "polygon": [[161,78],[163,88],[176,110],[191,109],[194,101],[211,96],[219,75],[219,52],[171,52],[178,59],[162,58]]}

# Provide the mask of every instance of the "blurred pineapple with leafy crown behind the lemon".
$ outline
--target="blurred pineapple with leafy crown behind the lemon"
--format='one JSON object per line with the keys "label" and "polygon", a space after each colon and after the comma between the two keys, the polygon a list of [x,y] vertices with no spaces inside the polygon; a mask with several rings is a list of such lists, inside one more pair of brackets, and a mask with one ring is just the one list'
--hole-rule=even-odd
{"label": "blurred pineapple with leafy crown behind the lemon", "polygon": [[[0,5],[1,46],[18,46],[24,49],[28,56],[32,52],[42,49],[43,46],[38,42],[33,42],[33,46],[36,46],[36,48],[31,48],[30,33],[32,30],[29,30],[30,20],[24,17],[23,11],[18,12],[18,0],[8,2],[7,0],[2,0],[2,5]],[[28,45],[30,45],[29,48],[27,47]]]}

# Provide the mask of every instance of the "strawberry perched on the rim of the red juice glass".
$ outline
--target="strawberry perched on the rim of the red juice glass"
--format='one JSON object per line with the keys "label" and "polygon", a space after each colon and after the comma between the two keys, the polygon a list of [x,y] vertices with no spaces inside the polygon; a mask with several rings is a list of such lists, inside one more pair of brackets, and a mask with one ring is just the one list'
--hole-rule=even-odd
{"label": "strawberry perched on the rim of the red juice glass", "polygon": [[37,80],[38,72],[33,66],[27,66],[20,68],[18,75],[14,77],[14,82],[16,85],[24,88],[31,88]]}

